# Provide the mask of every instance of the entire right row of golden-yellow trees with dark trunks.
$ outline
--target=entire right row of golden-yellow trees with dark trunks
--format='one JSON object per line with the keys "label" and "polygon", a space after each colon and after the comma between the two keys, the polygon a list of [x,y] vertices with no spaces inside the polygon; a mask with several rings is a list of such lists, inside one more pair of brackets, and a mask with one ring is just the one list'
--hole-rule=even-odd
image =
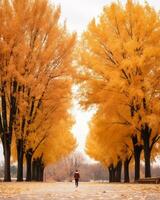
{"label": "entire right row of golden-yellow trees with dark trunks", "polygon": [[104,7],[84,32],[78,55],[81,104],[97,111],[87,153],[108,167],[110,181],[121,180],[124,165],[129,182],[130,163],[138,180],[140,160],[151,177],[160,138],[159,13],[132,0]]}

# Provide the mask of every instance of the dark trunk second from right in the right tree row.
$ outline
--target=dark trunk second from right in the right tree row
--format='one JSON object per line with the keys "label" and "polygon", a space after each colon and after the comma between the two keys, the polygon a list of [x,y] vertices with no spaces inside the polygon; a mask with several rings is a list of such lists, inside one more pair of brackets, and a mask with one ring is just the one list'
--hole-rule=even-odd
{"label": "dark trunk second from right in the right tree row", "polygon": [[133,143],[133,149],[134,149],[134,163],[135,163],[135,176],[134,180],[137,181],[140,179],[140,157],[142,152],[142,145],[138,144],[138,138],[137,135],[132,136],[132,143]]}

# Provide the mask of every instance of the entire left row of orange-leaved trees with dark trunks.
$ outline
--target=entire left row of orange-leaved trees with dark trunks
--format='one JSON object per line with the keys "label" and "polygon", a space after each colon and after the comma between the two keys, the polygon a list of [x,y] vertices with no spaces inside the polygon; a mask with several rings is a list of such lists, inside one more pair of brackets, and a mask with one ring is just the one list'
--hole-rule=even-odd
{"label": "entire left row of orange-leaved trees with dark trunks", "polygon": [[[0,2],[0,136],[4,181],[42,180],[44,167],[75,148],[71,87],[75,34],[47,0]],[[25,158],[25,159],[24,159]],[[24,162],[25,161],[25,162]]]}

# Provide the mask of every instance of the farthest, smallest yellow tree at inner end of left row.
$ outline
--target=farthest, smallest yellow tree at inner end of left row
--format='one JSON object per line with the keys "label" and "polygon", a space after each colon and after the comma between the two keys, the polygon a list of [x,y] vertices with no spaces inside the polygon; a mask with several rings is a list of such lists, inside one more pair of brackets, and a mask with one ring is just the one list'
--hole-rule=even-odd
{"label": "farthest, smallest yellow tree at inner end of left row", "polygon": [[[48,137],[35,151],[32,161],[32,179],[42,181],[44,168],[67,156],[76,147],[71,133],[73,120],[68,116],[53,124]],[[33,148],[33,147],[32,147]]]}

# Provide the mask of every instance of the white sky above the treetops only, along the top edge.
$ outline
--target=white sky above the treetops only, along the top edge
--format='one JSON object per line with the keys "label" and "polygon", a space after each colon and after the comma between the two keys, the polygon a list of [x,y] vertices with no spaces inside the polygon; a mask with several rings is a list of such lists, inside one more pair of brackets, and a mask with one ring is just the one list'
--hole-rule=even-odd
{"label": "white sky above the treetops only, along the top edge", "polygon": [[[61,5],[62,17],[67,20],[68,28],[71,31],[82,32],[89,21],[98,16],[104,5],[109,5],[116,0],[51,0]],[[137,0],[135,0],[137,1]],[[121,0],[125,3],[126,0]],[[145,0],[139,0],[144,3]],[[160,0],[148,0],[150,5],[160,10]]]}

